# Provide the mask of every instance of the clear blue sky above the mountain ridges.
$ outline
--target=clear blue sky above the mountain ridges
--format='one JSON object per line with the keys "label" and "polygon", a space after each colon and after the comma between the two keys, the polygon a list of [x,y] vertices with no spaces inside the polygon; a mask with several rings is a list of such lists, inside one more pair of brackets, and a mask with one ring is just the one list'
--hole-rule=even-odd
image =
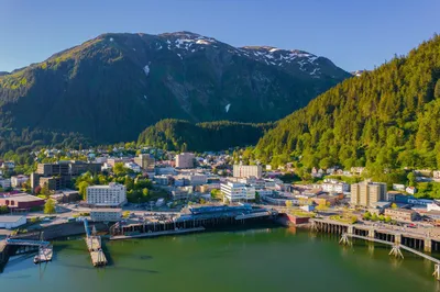
{"label": "clear blue sky above the mountain ridges", "polygon": [[372,69],[440,33],[439,0],[0,0],[0,71],[106,32],[191,31]]}

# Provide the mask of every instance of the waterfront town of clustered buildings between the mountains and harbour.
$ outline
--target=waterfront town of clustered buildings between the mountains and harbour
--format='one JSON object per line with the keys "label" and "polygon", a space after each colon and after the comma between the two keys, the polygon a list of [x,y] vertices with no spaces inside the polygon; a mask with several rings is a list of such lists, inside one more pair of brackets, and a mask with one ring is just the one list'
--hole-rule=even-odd
{"label": "waterfront town of clustered buildings between the mountains and harbour", "polygon": [[[295,175],[289,165],[276,170],[244,165],[227,151],[196,155],[143,147],[124,154],[121,147],[110,154],[43,149],[33,155],[36,161],[51,162],[37,162],[29,176],[16,173],[14,161],[0,161],[4,235],[86,217],[106,223],[147,222],[153,213],[155,217],[184,215],[188,206],[243,204],[288,214],[290,224],[318,215],[440,235],[437,200],[417,199],[417,188],[411,186],[362,180],[361,167],[350,171],[314,168],[315,182],[305,183],[289,181]],[[437,183],[440,179],[440,171],[410,173],[415,181]]]}

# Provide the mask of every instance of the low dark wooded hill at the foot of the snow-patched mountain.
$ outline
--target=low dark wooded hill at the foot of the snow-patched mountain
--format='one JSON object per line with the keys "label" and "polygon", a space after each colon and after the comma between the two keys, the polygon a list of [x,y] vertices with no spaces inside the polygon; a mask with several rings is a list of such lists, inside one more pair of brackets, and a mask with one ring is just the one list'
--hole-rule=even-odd
{"label": "low dark wooded hill at the foot of the snow-patched mountain", "polygon": [[229,121],[194,124],[167,119],[145,128],[139,136],[138,144],[166,150],[224,150],[255,145],[264,132],[273,126],[273,123],[250,124]]}

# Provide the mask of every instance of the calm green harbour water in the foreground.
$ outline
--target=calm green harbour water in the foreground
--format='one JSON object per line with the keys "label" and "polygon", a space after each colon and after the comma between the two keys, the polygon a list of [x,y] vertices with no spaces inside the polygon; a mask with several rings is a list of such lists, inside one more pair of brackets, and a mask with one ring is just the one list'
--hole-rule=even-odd
{"label": "calm green harbour water in the foreground", "polygon": [[[54,260],[14,258],[0,291],[438,291],[433,265],[389,248],[307,231],[261,228],[106,243],[111,266],[92,268],[81,239],[54,244]],[[440,290],[439,290],[440,291]]]}

